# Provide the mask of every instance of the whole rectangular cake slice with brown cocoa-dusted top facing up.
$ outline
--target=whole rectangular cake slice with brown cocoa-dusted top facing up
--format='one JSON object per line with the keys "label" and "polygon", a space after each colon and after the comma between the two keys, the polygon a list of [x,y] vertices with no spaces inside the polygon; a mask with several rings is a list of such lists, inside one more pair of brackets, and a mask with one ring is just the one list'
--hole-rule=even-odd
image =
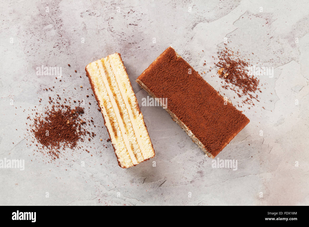
{"label": "whole rectangular cake slice with brown cocoa-dusted top facing up", "polygon": [[172,47],[160,54],[136,82],[153,98],[167,98],[166,111],[211,158],[249,123]]}

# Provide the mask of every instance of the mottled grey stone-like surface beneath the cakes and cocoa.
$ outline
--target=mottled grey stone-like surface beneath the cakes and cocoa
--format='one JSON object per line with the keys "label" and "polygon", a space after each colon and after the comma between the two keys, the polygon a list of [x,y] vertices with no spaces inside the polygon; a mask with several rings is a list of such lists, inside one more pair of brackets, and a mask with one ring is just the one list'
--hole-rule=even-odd
{"label": "mottled grey stone-like surface beneath the cakes and cocoa", "polygon": [[[0,205],[309,205],[307,1],[1,4],[0,159],[24,159],[25,170],[0,168]],[[93,103],[85,105],[85,116],[103,125],[87,90],[84,68],[91,61],[121,53],[141,104],[147,94],[135,79],[165,48],[171,45],[202,72],[226,39],[244,55],[254,52],[258,65],[274,67],[273,78],[260,77],[260,103],[238,108],[251,122],[217,156],[237,159],[236,171],[212,168],[212,159],[162,107],[141,107],[156,156],[133,168],[117,165],[105,127],[96,127],[94,140],[84,142],[90,153],[66,150],[57,163],[43,162],[27,147],[31,112],[23,110],[42,109],[50,95]],[[62,82],[37,76],[41,65],[62,67]],[[214,75],[212,70],[203,77],[221,94],[235,96]],[[51,86],[54,92],[43,91]]]}

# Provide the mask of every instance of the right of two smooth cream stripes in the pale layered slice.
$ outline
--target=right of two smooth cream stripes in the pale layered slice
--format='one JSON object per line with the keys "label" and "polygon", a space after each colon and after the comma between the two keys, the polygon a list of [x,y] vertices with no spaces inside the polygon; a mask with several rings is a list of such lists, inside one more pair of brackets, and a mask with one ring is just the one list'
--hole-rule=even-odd
{"label": "right of two smooth cream stripes in the pale layered slice", "polygon": [[[120,75],[118,74],[118,71],[117,71],[116,63],[114,62],[114,59],[113,59],[112,57],[108,56],[108,58],[109,58],[109,61],[110,61],[110,63],[111,63],[112,70],[113,70],[113,73],[114,73],[114,75],[115,75],[117,84],[118,84],[118,86],[119,86],[119,90],[120,90],[120,92],[121,92],[121,96],[122,96],[122,97],[126,97],[125,89],[124,89],[123,86],[121,86],[121,79],[120,79]],[[125,70],[125,69],[123,68],[123,70]],[[130,106],[130,104],[129,104],[128,99],[124,99],[124,98],[123,98],[123,100],[124,100],[125,106],[126,106],[126,108],[127,108],[127,110],[128,110],[129,118],[130,118],[130,120],[131,120],[131,124],[132,124],[132,127],[133,127],[133,131],[134,131],[134,133],[135,133],[135,136],[136,136],[136,139],[137,139],[139,148],[141,149],[141,153],[142,153],[143,157],[146,157],[145,148],[144,148],[143,142],[142,142],[142,140],[141,140],[141,135],[140,135],[140,133],[139,133],[138,126],[137,126],[137,124],[136,124],[136,122],[135,122],[135,119],[134,119],[134,115],[133,115],[132,108],[131,108],[131,106]]]}

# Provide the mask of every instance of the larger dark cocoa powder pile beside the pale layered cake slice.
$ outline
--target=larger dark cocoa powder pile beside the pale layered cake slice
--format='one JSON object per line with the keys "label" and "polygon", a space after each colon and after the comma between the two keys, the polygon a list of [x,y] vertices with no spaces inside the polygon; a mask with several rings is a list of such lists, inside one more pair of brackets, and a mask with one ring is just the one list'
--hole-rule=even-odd
{"label": "larger dark cocoa powder pile beside the pale layered cake slice", "polygon": [[[61,104],[59,95],[55,99],[54,101],[54,98],[49,97],[49,105],[44,106],[44,112],[32,110],[36,111],[33,119],[31,119],[32,116],[27,118],[31,120],[28,125],[32,134],[32,144],[29,145],[34,145],[34,151],[49,156],[51,162],[59,158],[66,148],[72,151],[75,148],[83,149],[83,145],[78,146],[79,142],[83,142],[87,137],[89,141],[95,137],[94,132],[86,129],[87,123],[88,125],[91,123],[94,125],[94,123],[93,120],[86,121],[83,118],[83,107],[71,108],[69,105]],[[43,100],[40,99],[39,102],[41,101]],[[70,104],[71,101],[64,99],[64,103]],[[83,150],[89,153],[87,149]]]}

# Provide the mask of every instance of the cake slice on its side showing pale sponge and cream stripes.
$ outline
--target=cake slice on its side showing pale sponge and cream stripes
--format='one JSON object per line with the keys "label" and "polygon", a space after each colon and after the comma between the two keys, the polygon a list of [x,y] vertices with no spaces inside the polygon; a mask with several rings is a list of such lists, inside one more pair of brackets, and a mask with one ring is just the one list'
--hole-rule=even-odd
{"label": "cake slice on its side showing pale sponge and cream stripes", "polygon": [[154,157],[155,151],[120,54],[91,62],[85,70],[119,166],[128,168]]}

